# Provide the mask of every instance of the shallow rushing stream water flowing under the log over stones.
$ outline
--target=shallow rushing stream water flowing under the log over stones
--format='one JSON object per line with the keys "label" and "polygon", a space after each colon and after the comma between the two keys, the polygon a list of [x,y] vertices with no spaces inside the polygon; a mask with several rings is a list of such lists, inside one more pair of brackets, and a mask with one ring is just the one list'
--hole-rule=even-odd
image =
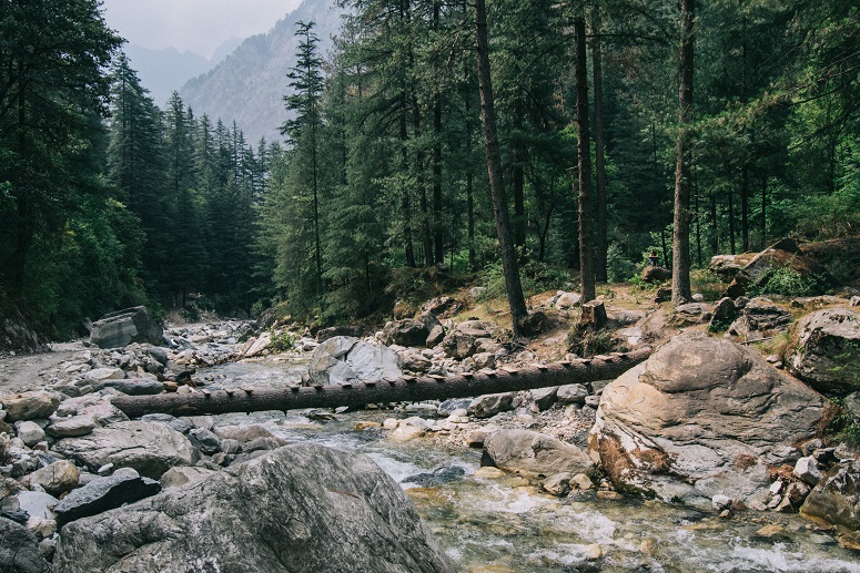
{"label": "shallow rushing stream water flowing under the log over stones", "polygon": [[[212,387],[296,380],[304,364],[223,365],[201,372]],[[408,417],[364,410],[318,419],[308,412],[223,415],[216,424],[261,423],[290,441],[368,456],[412,497],[457,571],[556,572],[857,572],[860,554],[798,515],[745,512],[720,519],[657,501],[554,498],[525,480],[475,475],[480,452],[418,440],[396,443],[358,421]],[[757,534],[765,525],[776,534]],[[773,528],[771,528],[773,529]]]}

